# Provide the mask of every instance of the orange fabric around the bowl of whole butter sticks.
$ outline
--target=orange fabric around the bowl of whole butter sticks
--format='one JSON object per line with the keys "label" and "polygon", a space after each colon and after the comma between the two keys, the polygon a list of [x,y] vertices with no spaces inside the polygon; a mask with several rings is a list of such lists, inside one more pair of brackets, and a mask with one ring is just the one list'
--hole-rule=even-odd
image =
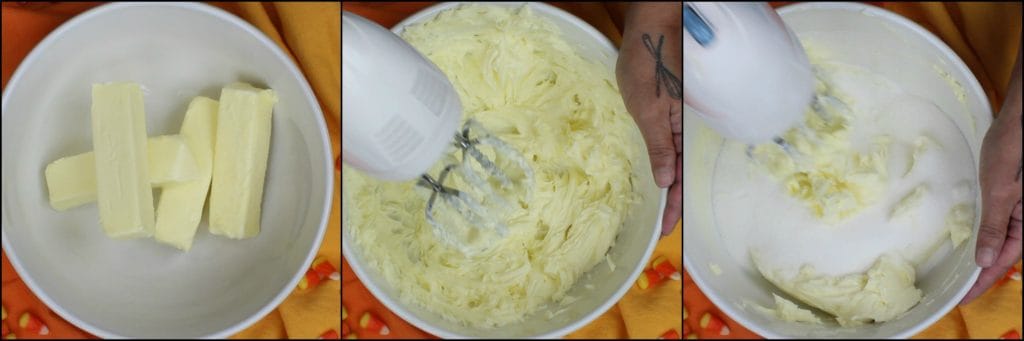
{"label": "orange fabric around the bowl of whole butter sticks", "polygon": [[[3,86],[22,59],[46,35],[69,18],[99,3],[3,3]],[[324,110],[333,147],[341,158],[341,12],[337,2],[326,3],[213,3],[248,20],[278,43],[305,74]],[[334,160],[333,159],[333,160]],[[341,264],[341,170],[335,171],[334,207],[319,255],[336,267]],[[341,331],[341,283],[325,280],[311,290],[295,291],[266,317],[236,338],[316,338]],[[18,280],[6,254],[3,256],[3,304],[7,326],[18,338],[28,338],[16,327],[25,311],[39,316],[51,330],[50,338],[92,337],[51,312]]]}

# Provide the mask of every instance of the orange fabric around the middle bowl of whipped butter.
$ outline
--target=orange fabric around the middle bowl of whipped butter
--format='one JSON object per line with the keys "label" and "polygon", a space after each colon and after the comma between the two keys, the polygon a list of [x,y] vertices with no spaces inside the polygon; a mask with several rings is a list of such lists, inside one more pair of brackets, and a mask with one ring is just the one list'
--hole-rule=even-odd
{"label": "orange fabric around the middle bowl of whipped butter", "polygon": [[[389,28],[432,4],[432,2],[343,2],[341,7],[343,10]],[[557,2],[552,5],[584,19],[607,36],[616,46],[621,43],[625,4]],[[651,259],[658,255],[666,256],[676,268],[682,268],[681,224],[682,221],[677,223],[672,235],[658,242]],[[387,338],[436,338],[389,311],[370,294],[346,262],[342,262],[342,304],[348,312],[346,323],[360,339],[379,337],[357,328],[358,318],[365,311],[377,314],[387,324],[392,331]],[[640,290],[634,285],[618,304],[590,325],[567,335],[566,338],[653,339],[670,329],[682,334],[681,284],[678,281],[666,281],[647,290]]]}

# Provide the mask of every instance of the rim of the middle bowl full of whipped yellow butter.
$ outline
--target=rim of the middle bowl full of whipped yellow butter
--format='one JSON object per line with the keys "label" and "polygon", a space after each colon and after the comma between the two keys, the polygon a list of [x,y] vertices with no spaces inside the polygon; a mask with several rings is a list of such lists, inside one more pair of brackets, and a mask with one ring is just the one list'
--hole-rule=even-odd
{"label": "rim of the middle bowl full of whipped yellow butter", "polygon": [[[437,4],[430,5],[428,7],[425,7],[423,9],[421,9],[421,10],[419,10],[419,11],[411,14],[410,16],[406,17],[404,19],[402,19],[401,22],[399,22],[398,24],[396,24],[391,29],[391,32],[394,33],[394,34],[396,34],[396,35],[398,35],[398,34],[400,34],[402,32],[402,30],[404,30],[406,27],[408,27],[408,26],[410,26],[412,24],[420,23],[420,22],[422,22],[422,20],[424,20],[426,18],[433,17],[434,15],[436,15],[440,11],[446,10],[449,8],[458,7],[458,6],[461,6],[461,5],[464,5],[464,4],[466,4],[466,3],[461,3],[461,2],[440,2],[440,3],[437,3]],[[588,34],[590,34],[591,36],[593,36],[593,38],[597,39],[599,44],[601,44],[604,47],[607,47],[607,51],[611,53],[610,54],[611,56],[616,56],[618,54],[618,49],[614,47],[614,45],[611,43],[611,41],[608,40],[608,38],[604,34],[602,34],[601,32],[597,31],[597,29],[595,29],[593,26],[591,26],[587,22],[584,22],[583,19],[579,18],[578,16],[575,16],[575,15],[573,15],[573,14],[571,14],[571,13],[569,13],[569,12],[567,12],[567,11],[561,9],[561,8],[558,8],[558,7],[555,7],[555,6],[546,4],[546,3],[541,3],[541,2],[477,2],[477,3],[474,3],[474,4],[499,5],[499,6],[504,6],[504,7],[519,7],[519,6],[523,6],[523,5],[529,5],[529,6],[532,7],[531,9],[534,9],[534,10],[545,11],[545,12],[549,12],[551,14],[563,17],[566,20],[567,24],[570,24],[570,25],[573,25],[573,26],[577,26],[577,27],[581,28],[582,30],[586,31]],[[662,221],[665,218],[664,215],[662,214],[662,212],[665,211],[665,206],[667,205],[667,199],[668,199],[668,191],[669,191],[669,189],[668,188],[660,188],[659,187],[659,188],[657,188],[657,191],[658,191],[659,201],[658,201],[658,209],[657,209],[657,212],[658,212],[657,213],[657,218],[656,218],[656,220],[654,222],[655,223],[655,225],[654,225],[655,228],[653,228],[653,231],[652,231],[652,233],[650,236],[650,239],[647,241],[646,250],[644,251],[643,256],[640,258],[639,266],[637,266],[636,268],[634,268],[632,270],[632,273],[627,278],[627,281],[625,281],[618,289],[616,289],[610,296],[608,296],[607,299],[605,299],[605,301],[602,302],[600,305],[598,305],[598,307],[596,309],[594,309],[593,311],[587,313],[586,315],[581,316],[579,319],[577,319],[577,321],[574,321],[574,322],[572,322],[570,324],[567,324],[567,325],[565,325],[565,326],[563,326],[561,328],[554,329],[554,330],[552,330],[552,331],[550,331],[548,333],[528,336],[528,338],[539,338],[539,339],[561,338],[561,337],[565,336],[566,334],[569,334],[571,332],[574,332],[574,331],[583,328],[584,326],[587,326],[588,324],[590,324],[591,322],[593,322],[594,319],[596,319],[598,316],[604,314],[604,312],[606,312],[609,308],[611,308],[611,306],[613,304],[617,303],[618,300],[621,300],[623,298],[623,296],[626,295],[626,292],[628,292],[630,290],[630,288],[633,286],[633,283],[636,282],[637,278],[639,278],[640,272],[643,271],[644,264],[647,264],[647,262],[650,260],[650,257],[652,256],[652,251],[654,250],[654,247],[657,245],[657,241],[659,240],[658,237],[660,236],[660,232],[662,232],[662,229],[660,229]],[[344,201],[342,201],[342,202],[344,202]],[[344,232],[342,232],[342,233],[344,233]],[[351,257],[351,253],[353,251],[351,251],[351,246],[348,246],[348,240],[345,239],[345,238],[342,238],[341,241],[342,241],[342,243],[341,243],[342,244],[342,248],[341,249],[342,249],[343,256],[345,256],[346,259],[353,259]],[[413,326],[416,326],[417,328],[419,328],[419,329],[421,329],[421,330],[423,330],[423,331],[425,331],[427,333],[430,333],[432,335],[435,335],[435,336],[438,336],[438,337],[441,337],[441,338],[445,338],[445,339],[447,339],[447,338],[458,338],[458,339],[476,338],[476,336],[460,334],[460,333],[455,332],[455,331],[449,331],[449,330],[440,328],[440,327],[435,327],[435,326],[433,326],[433,325],[431,325],[431,324],[429,324],[429,323],[427,323],[427,322],[425,322],[423,319],[420,319],[419,317],[417,317],[416,315],[414,315],[412,312],[410,312],[410,311],[406,310],[404,308],[402,308],[401,303],[399,303],[396,299],[393,299],[393,298],[387,296],[384,293],[383,289],[379,288],[376,284],[374,284],[371,281],[366,281],[367,279],[370,279],[370,276],[369,276],[368,270],[365,269],[361,264],[356,263],[356,262],[349,262],[348,264],[349,264],[349,267],[352,268],[352,271],[355,273],[355,275],[362,283],[364,287],[366,287],[367,290],[369,290],[374,295],[374,297],[377,298],[377,300],[381,301],[381,303],[383,303],[385,307],[387,307],[389,310],[391,310],[391,312],[397,314],[399,317],[401,317],[402,319],[409,322]]]}

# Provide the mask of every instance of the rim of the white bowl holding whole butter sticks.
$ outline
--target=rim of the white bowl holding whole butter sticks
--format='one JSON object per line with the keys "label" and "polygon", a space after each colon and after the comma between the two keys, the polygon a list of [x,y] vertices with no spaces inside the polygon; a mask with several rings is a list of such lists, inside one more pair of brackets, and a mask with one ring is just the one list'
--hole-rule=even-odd
{"label": "rim of the white bowl holding whole butter sticks", "polygon": [[[50,46],[55,44],[59,40],[59,38],[63,36],[68,31],[71,31],[76,27],[83,25],[85,23],[89,23],[95,19],[95,17],[97,16],[101,16],[112,11],[130,7],[167,7],[167,8],[185,9],[195,14],[213,16],[214,18],[219,19],[227,25],[234,26],[241,29],[242,31],[245,31],[253,38],[255,38],[264,48],[269,49],[273,54],[273,56],[285,65],[285,68],[288,70],[288,72],[298,80],[301,91],[305,94],[306,104],[312,109],[313,114],[315,116],[313,118],[313,122],[316,125],[317,131],[319,132],[321,146],[323,147],[322,150],[324,151],[324,162],[319,167],[323,169],[324,174],[326,174],[327,176],[325,176],[326,178],[325,186],[323,193],[321,194],[321,196],[323,196],[324,206],[321,208],[322,213],[319,217],[319,222],[317,224],[318,227],[315,233],[315,238],[313,240],[313,244],[310,247],[309,251],[306,252],[305,260],[302,262],[303,264],[302,267],[297,268],[295,270],[295,273],[292,274],[292,279],[287,283],[287,285],[282,287],[280,292],[270,300],[268,300],[258,311],[256,311],[255,313],[246,318],[243,318],[242,321],[239,321],[238,323],[234,323],[233,325],[221,329],[218,332],[199,337],[199,338],[217,338],[217,339],[226,338],[252,326],[256,322],[266,316],[268,313],[270,313],[270,311],[276,309],[278,306],[285,300],[285,298],[291,295],[291,293],[293,292],[292,289],[294,289],[298,285],[299,281],[302,278],[302,274],[305,273],[305,269],[310,266],[310,264],[313,261],[313,258],[316,256],[321,248],[321,245],[323,244],[324,236],[327,232],[327,224],[331,217],[331,207],[334,199],[334,196],[332,195],[332,189],[334,188],[334,176],[331,165],[331,144],[328,138],[329,135],[327,132],[327,123],[324,119],[324,113],[321,111],[319,103],[316,100],[316,97],[313,95],[312,89],[309,87],[308,80],[306,80],[305,76],[299,71],[298,67],[296,67],[295,61],[292,58],[290,58],[289,55],[286,54],[281,49],[281,47],[278,46],[276,43],[267,38],[267,36],[263,34],[262,31],[256,29],[251,24],[242,19],[241,17],[236,16],[234,14],[228,11],[225,11],[223,9],[205,3],[114,2],[90,8],[82,13],[79,13],[78,15],[75,15],[74,17],[60,24],[60,26],[58,26],[57,28],[53,29],[53,31],[48,33],[46,35],[46,38],[44,38],[38,44],[36,44],[36,46],[32,48],[32,51],[29,52],[29,54],[26,55],[26,57],[18,63],[14,73],[11,74],[11,77],[8,80],[7,85],[3,89],[2,108],[7,108],[7,103],[11,99],[10,93],[13,92],[11,89],[17,88],[17,84],[19,83],[20,79],[25,76],[26,73],[28,73],[28,70],[31,69],[31,66],[34,63],[34,61],[38,59],[40,55],[44,53],[44,51],[48,50]],[[7,117],[7,111],[3,111],[3,118],[6,117]],[[315,189],[313,191],[313,195],[315,195]],[[6,204],[0,205],[0,210],[6,212],[7,211],[6,207],[7,207]],[[6,217],[7,214],[4,213],[3,216]],[[36,297],[38,297],[44,304],[46,304],[47,307],[50,308],[50,310],[56,312],[60,317],[65,318],[72,325],[94,336],[98,336],[101,338],[130,338],[130,336],[120,335],[114,331],[109,331],[103,328],[95,327],[79,318],[77,315],[65,310],[60,304],[58,304],[56,301],[50,298],[39,287],[39,285],[36,284],[36,281],[32,279],[31,273],[27,272],[25,267],[22,265],[22,262],[17,257],[14,248],[12,248],[12,244],[7,239],[6,221],[7,221],[6,218],[0,220],[0,224],[4,225],[4,228],[2,229],[2,231],[0,231],[0,236],[2,236],[3,238],[2,245],[4,253],[7,255],[7,259],[10,260],[10,264],[12,267],[14,267],[14,270],[17,272],[18,276],[22,279],[23,282],[25,282],[26,286],[33,294],[36,295]]]}

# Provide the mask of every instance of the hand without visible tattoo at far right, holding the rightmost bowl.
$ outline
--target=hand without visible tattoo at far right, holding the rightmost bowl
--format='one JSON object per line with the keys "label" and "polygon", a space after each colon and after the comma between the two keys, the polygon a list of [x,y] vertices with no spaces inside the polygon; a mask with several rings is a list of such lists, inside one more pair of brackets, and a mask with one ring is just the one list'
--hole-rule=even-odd
{"label": "hand without visible tattoo at far right, holding the rightmost bowl", "polygon": [[981,228],[976,262],[978,282],[964,297],[981,296],[1021,259],[1021,57],[1007,99],[981,144]]}

